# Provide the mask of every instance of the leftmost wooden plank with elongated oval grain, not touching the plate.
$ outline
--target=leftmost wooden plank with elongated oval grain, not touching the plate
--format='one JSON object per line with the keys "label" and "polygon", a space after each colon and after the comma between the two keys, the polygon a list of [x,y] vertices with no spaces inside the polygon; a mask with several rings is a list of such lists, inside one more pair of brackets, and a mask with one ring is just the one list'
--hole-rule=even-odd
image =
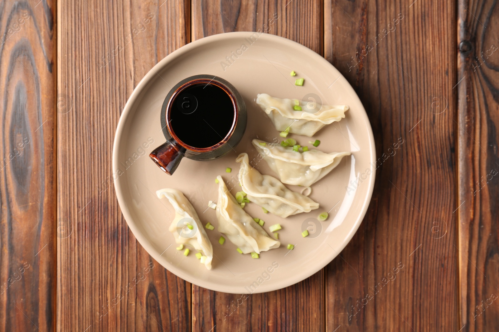
{"label": "leftmost wooden plank with elongated oval grain, not touching the plate", "polygon": [[53,1],[0,10],[0,330],[55,326]]}

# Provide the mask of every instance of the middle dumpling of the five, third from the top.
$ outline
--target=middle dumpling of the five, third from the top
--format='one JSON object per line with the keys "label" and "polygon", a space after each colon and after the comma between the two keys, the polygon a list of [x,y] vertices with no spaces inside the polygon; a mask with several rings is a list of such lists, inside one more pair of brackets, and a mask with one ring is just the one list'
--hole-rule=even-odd
{"label": "middle dumpling of the five, third from the top", "polygon": [[241,163],[239,182],[248,199],[268,212],[286,218],[319,207],[319,203],[287,189],[273,176],[261,175],[250,167],[247,153],[241,153],[236,161]]}

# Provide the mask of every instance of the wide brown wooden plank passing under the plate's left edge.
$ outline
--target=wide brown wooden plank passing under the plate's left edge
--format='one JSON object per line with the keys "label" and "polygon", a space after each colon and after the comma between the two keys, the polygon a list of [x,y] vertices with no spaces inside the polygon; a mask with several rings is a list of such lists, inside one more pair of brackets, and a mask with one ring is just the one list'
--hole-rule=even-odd
{"label": "wide brown wooden plank passing under the plate's left edge", "polygon": [[189,331],[191,285],[138,244],[116,200],[115,128],[133,88],[189,42],[182,1],[59,1],[57,331]]}

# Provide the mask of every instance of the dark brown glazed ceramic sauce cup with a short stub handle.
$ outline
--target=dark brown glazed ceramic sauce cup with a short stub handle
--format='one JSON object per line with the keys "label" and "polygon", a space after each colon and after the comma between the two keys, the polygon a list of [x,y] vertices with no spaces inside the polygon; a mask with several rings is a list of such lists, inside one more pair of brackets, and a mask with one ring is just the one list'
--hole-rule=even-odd
{"label": "dark brown glazed ceramic sauce cup with a short stub handle", "polygon": [[188,77],[163,102],[161,127],[167,141],[149,157],[172,175],[183,157],[213,160],[233,150],[246,124],[245,103],[232,84],[213,75]]}

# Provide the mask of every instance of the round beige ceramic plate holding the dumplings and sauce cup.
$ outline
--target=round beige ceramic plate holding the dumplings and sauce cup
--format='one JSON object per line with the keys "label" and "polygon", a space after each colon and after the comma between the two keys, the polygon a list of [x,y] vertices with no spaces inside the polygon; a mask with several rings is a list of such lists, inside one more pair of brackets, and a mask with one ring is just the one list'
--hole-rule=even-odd
{"label": "round beige ceramic plate holding the dumplings and sauce cup", "polygon": [[[245,45],[245,46],[242,46]],[[237,56],[237,57],[236,57]],[[232,58],[232,59],[231,59]],[[229,61],[228,61],[229,59]],[[297,76],[289,73],[294,70]],[[243,96],[248,109],[248,128],[236,151],[214,161],[184,158],[173,176],[165,174],[149,158],[149,153],[165,141],[160,125],[163,100],[177,82],[196,75],[220,76],[231,82]],[[294,85],[304,78],[302,87]],[[239,254],[230,241],[218,243],[220,233],[215,210],[208,201],[217,200],[217,175],[226,182],[239,183],[241,152],[256,157],[252,138],[276,141],[279,133],[267,115],[255,103],[256,94],[268,93],[279,98],[303,99],[318,96],[323,104],[346,104],[350,110],[340,122],[326,125],[314,137],[325,152],[351,151],[329,175],[312,185],[310,198],[320,204],[318,210],[286,219],[263,214],[254,203],[245,211],[265,221],[263,228],[282,225],[281,246],[260,254],[259,259]],[[315,97],[317,98],[317,97]],[[311,138],[290,135],[300,145]],[[147,252],[166,269],[201,287],[227,293],[261,293],[297,283],[319,271],[346,246],[359,227],[374,185],[375,148],[366,112],[345,78],[324,58],[294,41],[269,34],[231,32],[192,42],[154,66],[133,91],[121,114],[113,149],[113,174],[121,211],[133,234]],[[372,164],[371,164],[372,163]],[[226,173],[231,167],[232,173]],[[256,168],[273,174],[261,161]],[[302,187],[287,186],[299,191]],[[201,221],[211,222],[207,230],[213,244],[212,270],[196,259],[176,250],[168,231],[174,210],[167,199],[158,199],[156,190],[175,188],[191,201]],[[235,194],[239,186],[232,190]],[[321,212],[329,212],[327,221],[317,221]],[[309,236],[301,236],[308,228]],[[288,243],[294,250],[287,250]]]}

